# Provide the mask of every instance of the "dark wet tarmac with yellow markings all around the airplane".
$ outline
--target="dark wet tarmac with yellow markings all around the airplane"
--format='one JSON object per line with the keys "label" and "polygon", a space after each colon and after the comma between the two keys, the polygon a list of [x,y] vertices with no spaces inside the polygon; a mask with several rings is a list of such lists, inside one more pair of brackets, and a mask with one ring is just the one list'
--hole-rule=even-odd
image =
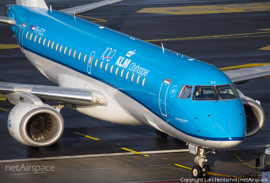
{"label": "dark wet tarmac with yellow markings all around the airplane", "polygon": [[[4,7],[11,2],[14,1],[1,1],[0,6]],[[61,10],[96,1],[45,2],[52,9]],[[247,6],[251,3],[254,1],[237,1],[237,4]],[[267,47],[270,45],[270,9],[267,1],[260,3],[263,4],[260,9],[254,10],[249,6],[237,12],[211,13],[214,12],[212,5],[235,5],[235,1],[125,0],[80,16],[132,37],[155,40],[149,42],[156,45],[161,46],[162,42],[165,48],[208,62],[217,68],[224,68],[270,63],[270,49]],[[208,6],[211,10],[208,11],[210,13],[202,14],[196,8],[191,14],[137,12],[144,8],[183,6]],[[180,11],[178,9],[171,8],[173,12]],[[4,15],[3,8],[0,10],[1,15]],[[1,44],[17,44],[9,25],[0,24],[0,33],[0,82],[55,86],[27,60],[19,48],[2,49]],[[205,71],[200,74],[211,73]],[[215,155],[207,153],[207,164],[211,171],[227,175],[261,175],[253,167],[255,155],[263,153],[270,140],[269,81],[270,78],[266,77],[236,85],[244,95],[261,102],[265,111],[265,124],[257,135],[244,139],[234,150],[217,151]],[[189,169],[178,166],[180,164],[191,168],[195,164],[195,155],[187,152],[186,143],[171,136],[158,138],[155,129],[150,126],[108,123],[64,107],[61,115],[65,129],[59,141],[48,147],[28,147],[9,135],[9,112],[3,109],[11,110],[12,107],[7,101],[0,100],[0,109],[0,182],[185,182],[183,179],[192,178]],[[25,168],[54,168],[29,174],[35,171],[23,168],[21,171],[12,171],[8,167],[20,168],[22,165]]]}

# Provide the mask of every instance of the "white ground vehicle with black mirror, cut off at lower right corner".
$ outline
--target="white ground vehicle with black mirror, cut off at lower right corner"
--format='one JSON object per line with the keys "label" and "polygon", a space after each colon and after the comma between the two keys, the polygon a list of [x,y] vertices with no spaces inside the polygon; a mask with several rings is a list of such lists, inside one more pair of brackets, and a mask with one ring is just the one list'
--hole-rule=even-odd
{"label": "white ground vehicle with black mirror, cut off at lower right corner", "polygon": [[[259,155],[256,155],[256,170],[259,166],[260,166],[260,157]],[[264,150],[261,171],[262,171],[262,183],[270,182],[270,179],[268,178],[270,176],[270,146],[268,146]]]}

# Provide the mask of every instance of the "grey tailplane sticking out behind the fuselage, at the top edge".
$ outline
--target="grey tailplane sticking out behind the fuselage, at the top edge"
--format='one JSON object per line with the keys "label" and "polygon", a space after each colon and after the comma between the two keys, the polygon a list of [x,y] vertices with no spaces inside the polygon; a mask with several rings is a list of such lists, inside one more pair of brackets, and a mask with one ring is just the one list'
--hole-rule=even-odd
{"label": "grey tailplane sticking out behind the fuselage, at the top edge", "polygon": [[[59,10],[68,14],[73,15],[75,13],[75,15],[90,11],[90,10],[95,10],[97,8],[100,7],[104,7],[110,4],[114,4],[120,1],[124,1],[124,0],[106,0],[106,1],[100,1],[100,2],[96,2],[96,3],[91,3],[91,4],[85,4],[82,6],[77,6],[77,7],[72,7],[72,8],[67,8],[64,10]],[[74,12],[74,13],[73,13]]]}

